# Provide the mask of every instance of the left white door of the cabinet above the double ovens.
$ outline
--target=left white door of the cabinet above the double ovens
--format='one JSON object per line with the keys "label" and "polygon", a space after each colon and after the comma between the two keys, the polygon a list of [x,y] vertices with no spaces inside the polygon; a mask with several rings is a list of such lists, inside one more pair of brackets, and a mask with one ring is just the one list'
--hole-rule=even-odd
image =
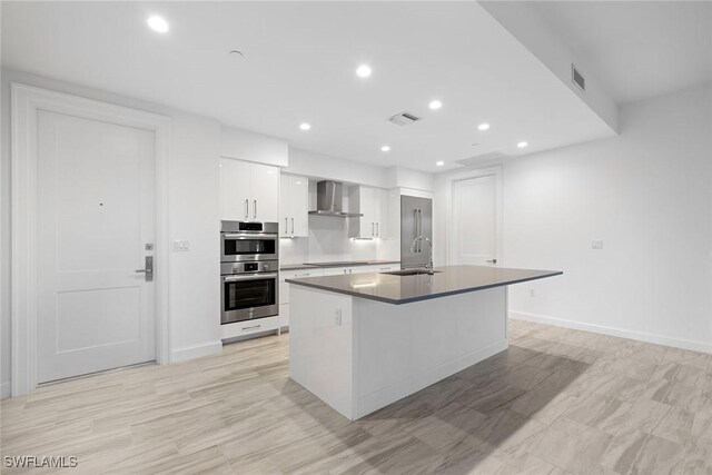
{"label": "left white door of the cabinet above the double ovens", "polygon": [[248,218],[250,164],[220,158],[220,219],[244,221]]}

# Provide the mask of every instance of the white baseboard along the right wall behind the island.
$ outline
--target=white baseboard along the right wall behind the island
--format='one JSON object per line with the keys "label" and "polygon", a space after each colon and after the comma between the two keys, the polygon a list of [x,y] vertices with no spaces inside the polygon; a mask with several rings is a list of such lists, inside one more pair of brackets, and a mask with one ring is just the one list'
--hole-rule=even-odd
{"label": "white baseboard along the right wall behind the island", "polygon": [[564,318],[550,317],[546,315],[527,314],[524,311],[510,311],[510,318],[515,320],[533,321],[536,324],[553,325],[556,327],[584,330],[621,338],[635,339],[639,342],[653,343],[656,345],[672,346],[674,348],[692,349],[694,352],[712,353],[712,343],[695,342],[680,338],[669,338],[662,335],[654,335],[644,331],[627,330],[624,328],[609,327],[604,325],[584,324],[581,321],[567,320]]}

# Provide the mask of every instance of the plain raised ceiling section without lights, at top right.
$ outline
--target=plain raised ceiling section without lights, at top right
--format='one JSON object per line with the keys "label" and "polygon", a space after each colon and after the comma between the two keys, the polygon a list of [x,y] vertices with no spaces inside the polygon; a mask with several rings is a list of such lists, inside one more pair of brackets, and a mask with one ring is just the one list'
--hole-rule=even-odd
{"label": "plain raised ceiling section without lights, at top right", "polygon": [[526,3],[556,31],[616,102],[712,80],[710,1]]}

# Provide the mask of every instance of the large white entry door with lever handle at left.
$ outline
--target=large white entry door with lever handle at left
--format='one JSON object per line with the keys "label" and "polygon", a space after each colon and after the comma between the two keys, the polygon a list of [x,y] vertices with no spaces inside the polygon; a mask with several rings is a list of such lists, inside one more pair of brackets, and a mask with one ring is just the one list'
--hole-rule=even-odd
{"label": "large white entry door with lever handle at left", "polygon": [[155,133],[41,110],[37,133],[39,383],[156,359]]}

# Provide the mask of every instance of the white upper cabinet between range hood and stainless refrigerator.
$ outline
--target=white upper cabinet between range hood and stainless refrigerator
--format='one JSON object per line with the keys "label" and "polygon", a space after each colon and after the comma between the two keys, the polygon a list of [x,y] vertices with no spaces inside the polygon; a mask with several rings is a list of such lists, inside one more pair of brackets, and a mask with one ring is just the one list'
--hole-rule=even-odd
{"label": "white upper cabinet between range hood and stainless refrigerator", "polygon": [[355,238],[386,238],[388,236],[386,190],[364,186],[350,187],[348,209],[364,216],[350,218],[348,235]]}

